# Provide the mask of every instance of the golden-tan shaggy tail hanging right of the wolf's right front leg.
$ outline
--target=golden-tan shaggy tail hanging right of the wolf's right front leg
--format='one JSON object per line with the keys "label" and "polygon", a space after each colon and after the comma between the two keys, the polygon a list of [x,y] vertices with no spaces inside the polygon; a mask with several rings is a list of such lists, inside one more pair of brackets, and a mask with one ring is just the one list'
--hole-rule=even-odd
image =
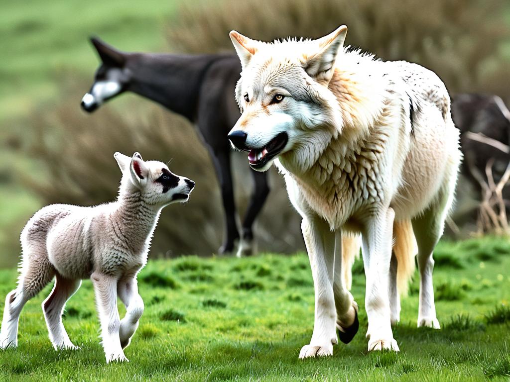
{"label": "golden-tan shaggy tail hanging right of the wolf's right front leg", "polygon": [[407,295],[415,270],[414,258],[418,253],[411,221],[393,223],[393,238],[393,253],[397,258],[397,290],[400,295]]}

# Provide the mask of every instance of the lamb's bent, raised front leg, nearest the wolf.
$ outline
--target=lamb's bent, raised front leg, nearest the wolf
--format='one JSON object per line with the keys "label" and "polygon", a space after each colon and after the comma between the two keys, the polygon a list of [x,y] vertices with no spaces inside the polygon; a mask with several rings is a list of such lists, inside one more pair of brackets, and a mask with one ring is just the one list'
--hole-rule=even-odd
{"label": "lamb's bent, raised front leg, nearest the wolf", "polygon": [[119,281],[117,294],[126,307],[126,315],[120,321],[120,346],[127,347],[138,328],[138,321],[143,313],[143,300],[138,294],[136,278]]}

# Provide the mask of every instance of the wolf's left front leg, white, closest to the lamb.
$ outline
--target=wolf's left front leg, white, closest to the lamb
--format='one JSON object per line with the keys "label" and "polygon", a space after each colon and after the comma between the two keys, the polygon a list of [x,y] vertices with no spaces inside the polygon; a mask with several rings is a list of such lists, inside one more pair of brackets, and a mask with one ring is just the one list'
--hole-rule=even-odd
{"label": "wolf's left front leg, white, closest to the lamb", "polygon": [[301,348],[299,358],[332,356],[333,345],[338,342],[335,333],[337,314],[333,295],[335,234],[319,217],[303,219],[301,229],[314,279],[315,322],[310,344]]}

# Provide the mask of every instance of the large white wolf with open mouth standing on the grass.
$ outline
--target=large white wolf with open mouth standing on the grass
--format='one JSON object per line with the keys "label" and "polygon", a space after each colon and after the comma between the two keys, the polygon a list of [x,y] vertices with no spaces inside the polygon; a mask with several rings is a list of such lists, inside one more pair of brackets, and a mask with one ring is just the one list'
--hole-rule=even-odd
{"label": "large white wolf with open mouth standing on the grass", "polygon": [[[346,33],[343,25],[317,40],[274,43],[230,34],[242,64],[242,115],[228,137],[249,150],[253,169],[275,162],[302,216],[315,323],[300,358],[331,355],[336,327],[343,342],[358,330],[358,306],[341,269],[341,257],[350,266],[359,251],[353,234],[362,236],[368,349],[398,351],[391,328],[400,312],[397,284],[400,291],[407,286],[416,243],[418,326],[439,328],[432,250],[462,159],[450,98],[421,66],[344,48]],[[335,239],[341,233],[351,235],[342,246]],[[349,253],[340,255],[340,247]]]}

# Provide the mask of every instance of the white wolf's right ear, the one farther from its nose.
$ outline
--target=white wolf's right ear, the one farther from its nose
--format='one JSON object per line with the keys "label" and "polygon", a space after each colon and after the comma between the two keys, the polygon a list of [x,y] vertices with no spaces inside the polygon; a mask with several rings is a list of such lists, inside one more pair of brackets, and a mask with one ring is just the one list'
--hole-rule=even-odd
{"label": "white wolf's right ear, the one farther from its nose", "polygon": [[308,75],[317,81],[329,84],[335,70],[338,51],[343,47],[347,26],[342,25],[327,36],[315,40],[317,51],[303,59],[303,68]]}

